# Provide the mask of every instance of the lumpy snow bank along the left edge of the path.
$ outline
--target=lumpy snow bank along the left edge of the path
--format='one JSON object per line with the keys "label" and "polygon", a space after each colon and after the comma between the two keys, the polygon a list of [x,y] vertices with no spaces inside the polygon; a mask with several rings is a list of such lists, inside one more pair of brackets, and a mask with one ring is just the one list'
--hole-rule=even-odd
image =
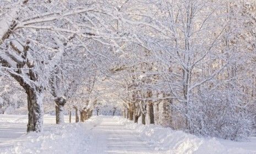
{"label": "lumpy snow bank along the left edge of the path", "polygon": [[42,133],[29,133],[10,141],[12,146],[0,149],[0,153],[85,153],[90,147],[90,129],[99,123],[96,120],[50,125]]}

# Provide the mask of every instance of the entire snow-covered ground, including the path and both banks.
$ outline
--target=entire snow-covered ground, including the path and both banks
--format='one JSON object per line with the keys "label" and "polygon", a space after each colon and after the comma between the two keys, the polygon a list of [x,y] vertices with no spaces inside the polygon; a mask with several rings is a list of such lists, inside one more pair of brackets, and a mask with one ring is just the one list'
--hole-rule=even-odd
{"label": "entire snow-covered ground, including the path and both banks", "polygon": [[204,139],[121,117],[99,116],[63,125],[54,124],[54,116],[44,119],[42,133],[26,135],[26,116],[0,114],[0,153],[256,153],[256,138],[244,142]]}

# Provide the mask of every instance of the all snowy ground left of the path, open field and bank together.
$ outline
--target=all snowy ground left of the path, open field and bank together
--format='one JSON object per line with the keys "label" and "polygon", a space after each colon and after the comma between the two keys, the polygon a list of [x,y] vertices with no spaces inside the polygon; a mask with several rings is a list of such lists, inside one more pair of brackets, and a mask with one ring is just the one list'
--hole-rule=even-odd
{"label": "all snowy ground left of the path, open field and bank together", "polygon": [[1,115],[0,153],[83,153],[88,150],[90,136],[86,123],[56,125],[54,116],[45,116],[44,120],[43,132],[26,134],[27,116]]}

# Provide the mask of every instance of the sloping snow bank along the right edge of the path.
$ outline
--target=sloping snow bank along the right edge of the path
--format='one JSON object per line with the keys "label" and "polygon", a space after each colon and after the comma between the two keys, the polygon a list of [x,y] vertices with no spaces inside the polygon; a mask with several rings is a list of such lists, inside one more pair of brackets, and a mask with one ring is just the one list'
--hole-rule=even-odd
{"label": "sloping snow bank along the right edge of the path", "polygon": [[255,152],[242,149],[241,147],[228,148],[215,138],[198,138],[195,135],[187,134],[183,131],[172,130],[171,128],[164,128],[159,125],[134,124],[121,117],[115,117],[115,119],[118,120],[119,124],[123,124],[129,129],[136,129],[140,134],[140,138],[148,142],[151,146],[156,147],[156,150],[167,150],[168,153],[241,154]]}

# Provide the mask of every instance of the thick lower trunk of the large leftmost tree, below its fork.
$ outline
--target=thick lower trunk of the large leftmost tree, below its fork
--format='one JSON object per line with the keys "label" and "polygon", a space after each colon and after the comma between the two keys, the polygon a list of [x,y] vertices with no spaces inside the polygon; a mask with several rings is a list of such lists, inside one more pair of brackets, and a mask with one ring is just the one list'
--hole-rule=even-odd
{"label": "thick lower trunk of the large leftmost tree, below its fork", "polygon": [[34,89],[26,89],[28,97],[28,125],[27,132],[42,131],[43,124],[43,92],[35,91]]}

